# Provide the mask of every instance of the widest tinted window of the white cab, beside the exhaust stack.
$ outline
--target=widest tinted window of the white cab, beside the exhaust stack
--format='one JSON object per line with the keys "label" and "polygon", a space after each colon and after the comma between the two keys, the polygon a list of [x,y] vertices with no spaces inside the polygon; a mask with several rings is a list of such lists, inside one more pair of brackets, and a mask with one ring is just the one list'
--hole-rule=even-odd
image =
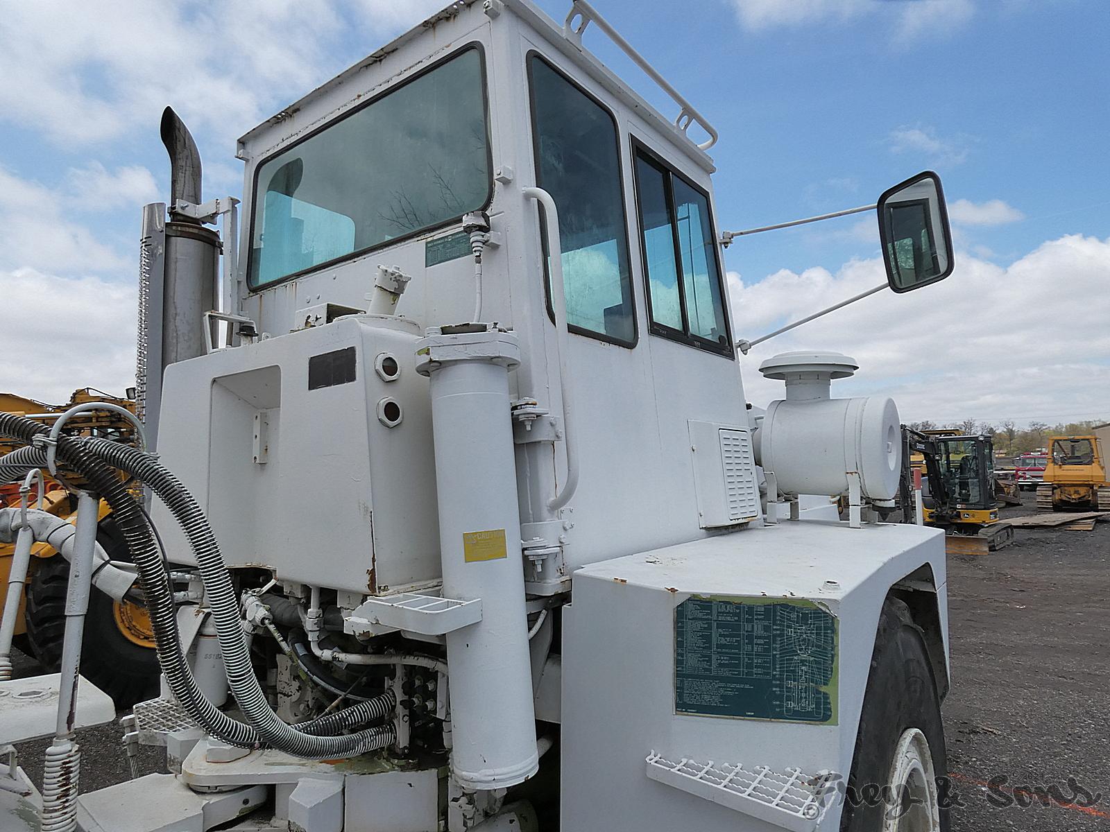
{"label": "widest tinted window of the white cab, beside the exhaust stack", "polygon": [[455,220],[490,185],[482,53],[468,49],[260,166],[250,283]]}

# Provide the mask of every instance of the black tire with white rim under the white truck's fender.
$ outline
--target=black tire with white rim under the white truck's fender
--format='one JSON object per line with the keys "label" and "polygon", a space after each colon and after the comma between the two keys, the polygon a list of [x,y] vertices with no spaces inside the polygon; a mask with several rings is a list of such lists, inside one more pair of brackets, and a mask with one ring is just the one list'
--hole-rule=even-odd
{"label": "black tire with white rim under the white truck's fender", "polygon": [[909,607],[887,598],[871,653],[841,832],[948,832],[948,775],[932,664]]}

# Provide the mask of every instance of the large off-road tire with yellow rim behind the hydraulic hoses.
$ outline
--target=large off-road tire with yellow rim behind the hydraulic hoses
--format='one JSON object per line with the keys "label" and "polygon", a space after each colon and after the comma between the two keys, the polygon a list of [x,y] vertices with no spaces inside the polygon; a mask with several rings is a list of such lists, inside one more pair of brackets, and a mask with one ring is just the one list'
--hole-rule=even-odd
{"label": "large off-road tire with yellow rim behind the hydraulic hoses", "polygon": [[[114,560],[128,560],[127,547],[110,524],[102,524],[100,545]],[[27,590],[27,637],[31,653],[57,672],[65,633],[69,561],[61,555],[32,564]],[[130,708],[158,696],[158,655],[143,632],[145,610],[117,603],[95,587],[89,596],[81,645],[81,674],[111,696],[117,708]]]}

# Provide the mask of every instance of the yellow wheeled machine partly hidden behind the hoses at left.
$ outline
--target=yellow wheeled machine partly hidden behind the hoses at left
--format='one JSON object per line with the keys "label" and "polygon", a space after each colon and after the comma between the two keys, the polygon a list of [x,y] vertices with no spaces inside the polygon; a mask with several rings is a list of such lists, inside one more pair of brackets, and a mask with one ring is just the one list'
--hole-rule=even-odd
{"label": "yellow wheeled machine partly hidden behind the hoses at left", "polygon": [[[132,410],[134,407],[134,403],[129,399],[84,388],[77,390],[65,405],[47,405],[10,393],[0,393],[0,412],[23,414],[49,425],[70,407],[87,402],[109,402]],[[125,418],[108,410],[78,414],[69,425],[79,426],[80,433],[89,436],[113,438],[127,438],[133,430]],[[10,450],[13,447],[0,440],[0,456]],[[18,506],[22,499],[19,484],[0,485],[0,507]],[[27,499],[36,504],[33,507],[58,517],[70,517],[77,510],[75,503],[71,503],[61,485],[49,478],[46,480],[43,505],[38,505],[37,493],[32,493]],[[98,541],[112,560],[130,560],[127,544],[104,503],[100,506]],[[13,545],[0,544],[0,588],[8,586],[13,554]],[[57,671],[65,629],[69,562],[47,544],[36,544],[31,554],[33,557],[23,606],[16,625],[16,645],[48,670]],[[121,708],[157,694],[158,656],[145,607],[132,600],[114,601],[93,590],[85,618],[81,673],[110,693]]]}

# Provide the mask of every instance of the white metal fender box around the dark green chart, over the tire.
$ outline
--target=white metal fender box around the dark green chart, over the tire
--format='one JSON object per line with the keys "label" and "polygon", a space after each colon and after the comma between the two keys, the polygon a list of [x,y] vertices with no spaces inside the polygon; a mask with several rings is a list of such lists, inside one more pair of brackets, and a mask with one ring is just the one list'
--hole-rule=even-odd
{"label": "white metal fender box around the dark green chart, over the tire", "polygon": [[[577,570],[563,633],[564,828],[774,829],[648,779],[645,758],[655,750],[672,760],[848,772],[882,599],[922,564],[932,568],[944,609],[944,536],[917,526],[781,522]],[[813,599],[833,612],[837,723],[676,713],[675,610],[692,595]],[[821,828],[838,822],[834,806]]]}

